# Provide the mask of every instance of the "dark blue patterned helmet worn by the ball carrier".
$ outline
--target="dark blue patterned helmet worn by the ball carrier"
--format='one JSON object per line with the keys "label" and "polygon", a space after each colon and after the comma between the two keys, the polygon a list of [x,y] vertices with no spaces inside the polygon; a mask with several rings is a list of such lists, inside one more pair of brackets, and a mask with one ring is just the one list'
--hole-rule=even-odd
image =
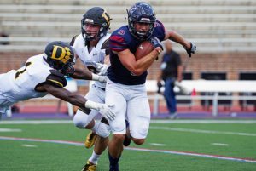
{"label": "dark blue patterned helmet worn by the ball carrier", "polygon": [[[155,14],[154,9],[150,4],[139,2],[131,6],[131,9],[127,9],[128,14],[128,27],[131,34],[140,40],[145,40],[150,37],[154,31]],[[150,28],[147,32],[137,31],[134,27],[134,23],[148,23]]]}

